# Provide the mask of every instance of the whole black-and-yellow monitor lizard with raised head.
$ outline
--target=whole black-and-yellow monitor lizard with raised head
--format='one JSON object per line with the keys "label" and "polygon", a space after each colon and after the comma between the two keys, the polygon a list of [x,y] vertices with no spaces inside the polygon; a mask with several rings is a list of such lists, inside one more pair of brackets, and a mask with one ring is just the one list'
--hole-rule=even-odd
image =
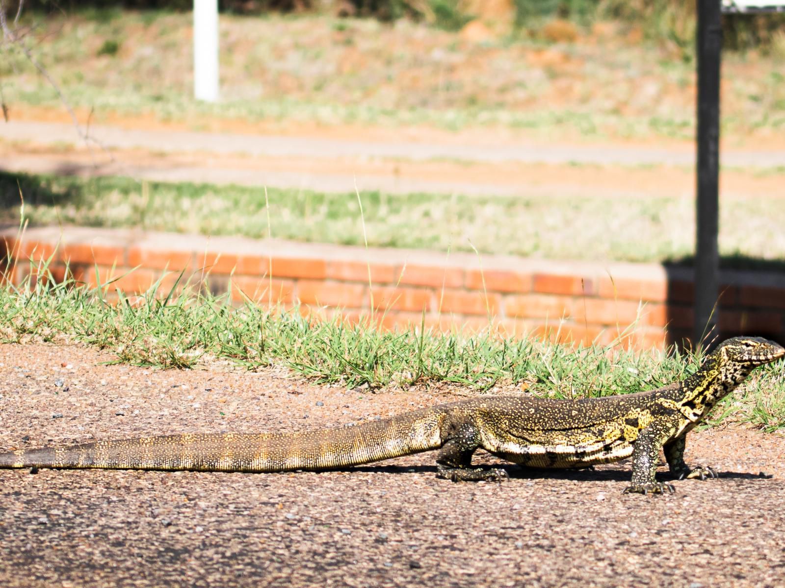
{"label": "whole black-and-yellow monitor lizard with raised head", "polygon": [[331,470],[440,449],[437,476],[500,481],[506,470],[473,468],[483,448],[521,466],[579,468],[632,456],[624,492],[674,492],[655,479],[662,448],[679,479],[717,477],[685,463],[685,437],[717,401],[758,365],[785,355],[760,337],[736,337],[707,355],[681,382],[657,390],[580,400],[487,396],[423,408],[389,419],[294,433],[175,434],[70,447],[16,449],[0,468],[103,468],[280,472]]}

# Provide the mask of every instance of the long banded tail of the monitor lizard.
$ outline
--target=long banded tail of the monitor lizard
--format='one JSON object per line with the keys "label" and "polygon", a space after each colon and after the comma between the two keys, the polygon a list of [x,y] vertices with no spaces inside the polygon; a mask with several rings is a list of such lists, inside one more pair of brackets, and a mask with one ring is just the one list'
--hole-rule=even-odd
{"label": "long banded tail of the monitor lizard", "polygon": [[329,470],[439,448],[444,412],[296,433],[180,434],[0,453],[0,468],[279,472]]}

